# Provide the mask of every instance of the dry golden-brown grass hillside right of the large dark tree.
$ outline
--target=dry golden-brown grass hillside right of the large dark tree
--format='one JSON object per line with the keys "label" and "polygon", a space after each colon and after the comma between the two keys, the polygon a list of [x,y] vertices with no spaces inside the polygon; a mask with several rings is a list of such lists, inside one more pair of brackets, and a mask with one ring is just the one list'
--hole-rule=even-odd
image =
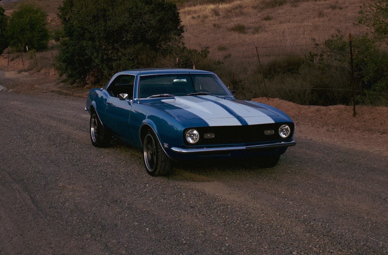
{"label": "dry golden-brown grass hillside right of the large dark tree", "polygon": [[[286,3],[272,7],[271,2]],[[353,23],[363,2],[236,0],[187,6],[180,9],[180,15],[185,25],[185,44],[195,49],[208,46],[212,56],[255,47],[269,47],[267,53],[284,53],[292,51],[294,45],[312,44],[312,38],[322,43],[337,30],[362,33],[364,28]]]}

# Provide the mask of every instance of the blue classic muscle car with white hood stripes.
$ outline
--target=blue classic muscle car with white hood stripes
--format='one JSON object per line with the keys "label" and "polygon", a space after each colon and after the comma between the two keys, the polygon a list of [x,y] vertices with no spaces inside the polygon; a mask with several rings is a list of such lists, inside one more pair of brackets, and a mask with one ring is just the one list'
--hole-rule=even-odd
{"label": "blue classic muscle car with white hood stripes", "polygon": [[296,144],[288,115],[237,100],[215,73],[201,70],[116,73],[90,91],[85,110],[95,147],[113,136],[126,141],[143,151],[152,176],[168,174],[171,160],[201,157],[255,157],[272,167]]}

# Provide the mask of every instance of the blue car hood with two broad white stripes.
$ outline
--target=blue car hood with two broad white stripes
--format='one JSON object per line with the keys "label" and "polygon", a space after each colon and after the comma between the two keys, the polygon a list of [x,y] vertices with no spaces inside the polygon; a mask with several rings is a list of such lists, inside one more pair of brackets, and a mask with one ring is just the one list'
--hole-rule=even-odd
{"label": "blue car hood with two broad white stripes", "polygon": [[[250,101],[224,99],[217,96],[180,96],[149,103],[180,122],[207,126],[241,126],[275,123],[280,110]],[[285,120],[284,121],[291,121]],[[206,122],[203,123],[203,122]],[[197,124],[194,124],[197,123]]]}

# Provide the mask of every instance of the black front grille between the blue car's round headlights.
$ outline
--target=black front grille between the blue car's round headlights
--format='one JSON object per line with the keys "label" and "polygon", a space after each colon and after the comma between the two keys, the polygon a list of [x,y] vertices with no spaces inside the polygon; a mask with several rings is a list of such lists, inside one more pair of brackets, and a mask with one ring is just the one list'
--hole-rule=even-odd
{"label": "black front grille between the blue car's round headlights", "polygon": [[[268,142],[268,141],[284,141],[284,139],[282,139],[279,136],[279,127],[283,124],[287,124],[291,128],[291,134],[294,132],[294,125],[291,123],[195,128],[199,132],[200,138],[199,138],[199,141],[194,146],[231,145],[231,144],[261,143],[261,142]],[[185,129],[185,131],[186,130],[187,129]],[[274,130],[274,134],[266,135],[264,134],[265,130]],[[214,138],[204,138],[204,134],[206,133],[213,133]],[[289,136],[288,139],[291,139],[291,138],[292,136]],[[188,143],[187,145],[190,146],[190,144]]]}

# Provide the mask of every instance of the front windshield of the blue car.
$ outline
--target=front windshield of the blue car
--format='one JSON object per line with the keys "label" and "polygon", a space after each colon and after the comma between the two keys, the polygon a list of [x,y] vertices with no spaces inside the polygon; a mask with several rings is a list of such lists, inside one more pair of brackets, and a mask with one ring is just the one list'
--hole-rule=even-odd
{"label": "front windshield of the blue car", "polygon": [[140,77],[139,98],[186,96],[193,93],[230,96],[227,87],[212,74],[165,74]]}

